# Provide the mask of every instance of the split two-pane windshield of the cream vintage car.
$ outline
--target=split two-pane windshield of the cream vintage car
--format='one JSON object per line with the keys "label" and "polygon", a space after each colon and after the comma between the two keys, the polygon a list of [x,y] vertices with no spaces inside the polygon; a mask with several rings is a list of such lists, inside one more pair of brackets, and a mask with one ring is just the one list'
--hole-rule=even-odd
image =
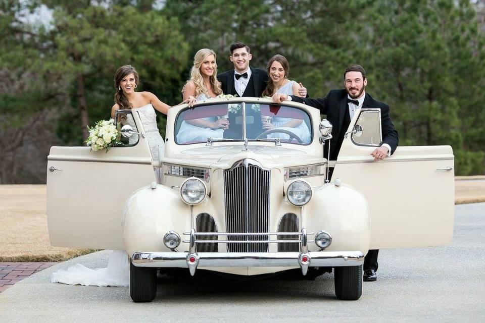
{"label": "split two-pane windshield of the cream vintage car", "polygon": [[[243,105],[245,109],[243,109]],[[246,111],[243,118],[243,110]],[[231,102],[192,107],[179,113],[177,144],[210,141],[278,141],[310,144],[310,116],[304,110],[279,104]]]}

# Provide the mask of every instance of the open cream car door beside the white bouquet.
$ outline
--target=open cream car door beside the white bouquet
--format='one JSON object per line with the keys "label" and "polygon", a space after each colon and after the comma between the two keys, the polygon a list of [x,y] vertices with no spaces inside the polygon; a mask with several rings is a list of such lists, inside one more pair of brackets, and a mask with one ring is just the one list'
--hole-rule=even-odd
{"label": "open cream car door beside the white bouquet", "polygon": [[[118,111],[117,126],[142,133],[137,111]],[[122,138],[109,152],[52,147],[47,157],[47,223],[51,245],[123,250],[125,201],[156,180],[143,135]]]}

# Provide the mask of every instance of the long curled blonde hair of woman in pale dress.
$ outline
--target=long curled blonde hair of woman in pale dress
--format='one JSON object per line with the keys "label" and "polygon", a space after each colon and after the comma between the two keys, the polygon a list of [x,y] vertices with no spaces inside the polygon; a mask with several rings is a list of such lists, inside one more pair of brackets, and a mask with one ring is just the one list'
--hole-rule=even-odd
{"label": "long curled blonde hair of woman in pale dress", "polygon": [[[190,70],[190,81],[192,81],[193,84],[196,86],[196,92],[194,94],[195,97],[198,97],[202,93],[209,96],[209,91],[206,87],[206,84],[204,83],[204,79],[202,78],[201,74],[202,63],[204,62],[204,59],[209,55],[214,55],[214,59],[217,59],[215,51],[209,48],[199,49],[199,51],[193,57],[193,66]],[[217,95],[222,94],[221,82],[219,82],[219,80],[217,79],[217,63],[214,69],[214,73],[209,77],[209,81],[211,83],[212,91]]]}

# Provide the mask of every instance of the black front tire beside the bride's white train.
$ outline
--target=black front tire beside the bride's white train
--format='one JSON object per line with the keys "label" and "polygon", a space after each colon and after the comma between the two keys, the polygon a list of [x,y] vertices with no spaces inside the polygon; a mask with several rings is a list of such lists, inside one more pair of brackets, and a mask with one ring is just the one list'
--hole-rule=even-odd
{"label": "black front tire beside the bride's white train", "polygon": [[137,267],[130,260],[130,296],[133,302],[151,302],[157,295],[157,268]]}

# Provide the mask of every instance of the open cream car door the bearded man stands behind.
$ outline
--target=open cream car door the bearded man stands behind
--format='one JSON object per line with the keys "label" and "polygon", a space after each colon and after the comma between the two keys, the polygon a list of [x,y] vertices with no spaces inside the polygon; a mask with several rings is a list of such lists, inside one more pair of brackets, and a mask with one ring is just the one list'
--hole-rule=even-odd
{"label": "open cream car door the bearded man stands behind", "polygon": [[[362,129],[354,128],[354,125]],[[367,199],[370,249],[451,245],[455,202],[451,146],[405,146],[380,161],[370,153],[381,143],[380,110],[357,110],[332,180]],[[349,201],[350,203],[352,201]]]}

